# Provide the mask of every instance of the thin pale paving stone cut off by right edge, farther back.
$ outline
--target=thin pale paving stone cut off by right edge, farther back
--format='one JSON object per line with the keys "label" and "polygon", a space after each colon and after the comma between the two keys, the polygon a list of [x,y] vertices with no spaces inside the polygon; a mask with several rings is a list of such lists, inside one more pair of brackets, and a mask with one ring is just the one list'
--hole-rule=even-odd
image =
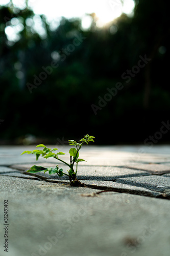
{"label": "thin pale paving stone cut off by right edge, farther back", "polygon": [[165,164],[128,164],[126,165],[127,168],[132,168],[132,169],[138,169],[138,170],[145,170],[151,174],[165,174],[165,173],[170,173],[170,166],[165,165]]}

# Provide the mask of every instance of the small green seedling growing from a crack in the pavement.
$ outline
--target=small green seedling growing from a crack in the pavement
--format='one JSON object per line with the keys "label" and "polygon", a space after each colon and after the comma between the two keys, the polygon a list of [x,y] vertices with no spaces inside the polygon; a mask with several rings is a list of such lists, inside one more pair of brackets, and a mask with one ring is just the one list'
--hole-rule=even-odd
{"label": "small green seedling growing from a crack in the pavement", "polygon": [[[43,144],[39,144],[36,147],[43,147],[43,150],[24,151],[21,155],[26,154],[26,153],[34,154],[34,155],[36,155],[36,160],[38,160],[39,156],[42,156],[43,158],[46,158],[46,159],[49,157],[53,157],[53,158],[61,161],[62,163],[66,164],[69,167],[69,169],[67,170],[68,174],[63,173],[63,169],[62,168],[59,169],[58,165],[56,165],[55,168],[53,168],[53,167],[45,168],[42,166],[33,165],[27,172],[34,174],[34,173],[44,171],[44,173],[48,172],[50,175],[57,174],[59,177],[66,175],[69,178],[71,186],[84,186],[84,184],[82,184],[76,178],[77,171],[78,171],[78,163],[85,161],[84,159],[79,158],[79,151],[84,143],[88,144],[90,141],[94,142],[93,139],[95,139],[93,136],[89,136],[87,134],[84,136],[83,139],[80,139],[78,142],[75,140],[68,140],[69,145],[74,145],[76,147],[76,148],[71,147],[69,150],[69,155],[70,155],[69,163],[66,163],[65,161],[63,161],[62,159],[59,158],[59,155],[65,155],[65,153],[63,153],[63,152],[56,153],[56,151],[58,151],[58,148],[51,149],[51,148],[46,147]],[[76,170],[74,169],[74,164],[76,164]]]}

